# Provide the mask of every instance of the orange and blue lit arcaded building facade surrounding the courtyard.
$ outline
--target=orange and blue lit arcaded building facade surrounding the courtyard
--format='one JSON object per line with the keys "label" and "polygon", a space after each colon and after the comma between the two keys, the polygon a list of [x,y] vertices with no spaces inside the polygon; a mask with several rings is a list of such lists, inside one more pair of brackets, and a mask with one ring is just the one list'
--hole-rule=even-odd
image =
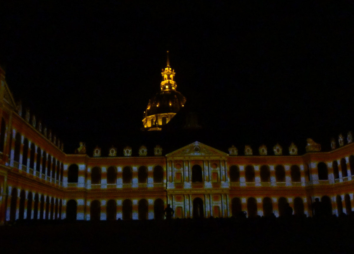
{"label": "orange and blue lit arcaded building facade surrounding the courtyard", "polygon": [[0,82],[1,224],[164,219],[166,204],[175,218],[225,218],[242,211],[249,217],[282,216],[287,205],[294,214],[312,216],[316,198],[328,215],[352,212],[351,132],[332,140],[330,152],[309,139],[303,155],[294,144],[289,155],[275,145],[272,155],[265,146],[259,155],[246,146],[239,156],[234,146],[225,153],[198,141],[164,156],[159,146],[155,156],[141,146],[137,157],[130,147],[123,153],[112,147],[108,157],[96,148],[89,157],[84,144],[77,154],[66,154],[58,137],[16,105],[2,69]]}

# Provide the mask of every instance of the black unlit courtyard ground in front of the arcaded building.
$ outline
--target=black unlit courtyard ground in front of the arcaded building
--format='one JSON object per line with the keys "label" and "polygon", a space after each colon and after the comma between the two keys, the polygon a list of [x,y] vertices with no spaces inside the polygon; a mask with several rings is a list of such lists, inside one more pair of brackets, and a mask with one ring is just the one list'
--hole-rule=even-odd
{"label": "black unlit courtyard ground in front of the arcaded building", "polygon": [[0,227],[0,253],[354,253],[354,218],[31,221]]}

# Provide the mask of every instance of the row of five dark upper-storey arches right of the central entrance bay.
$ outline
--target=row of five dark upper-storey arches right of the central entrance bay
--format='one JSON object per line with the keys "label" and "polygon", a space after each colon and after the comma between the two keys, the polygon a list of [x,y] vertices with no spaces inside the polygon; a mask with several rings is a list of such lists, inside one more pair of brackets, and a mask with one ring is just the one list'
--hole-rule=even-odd
{"label": "row of five dark upper-storey arches right of the central entrance bay", "polygon": [[[229,168],[230,171],[230,182],[240,181],[240,169],[236,165],[232,165]],[[261,177],[261,182],[270,182],[270,169],[268,165],[262,165],[259,168],[259,175]],[[292,182],[301,182],[301,172],[298,165],[292,165],[290,167],[290,175]],[[252,165],[247,165],[245,167],[245,179],[246,182],[255,181],[255,168]],[[285,182],[285,168],[282,165],[275,166],[275,181]]]}

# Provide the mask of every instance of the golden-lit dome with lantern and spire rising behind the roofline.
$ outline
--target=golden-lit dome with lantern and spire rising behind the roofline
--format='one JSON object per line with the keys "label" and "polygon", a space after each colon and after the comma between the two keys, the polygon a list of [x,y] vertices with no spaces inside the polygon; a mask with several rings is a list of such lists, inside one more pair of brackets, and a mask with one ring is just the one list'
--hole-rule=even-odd
{"label": "golden-lit dome with lantern and spire rising behind the roofline", "polygon": [[162,69],[160,92],[149,100],[144,112],[143,129],[161,130],[159,126],[167,124],[184,106],[185,97],[178,92],[175,82],[175,70],[170,68],[167,51],[167,66]]}

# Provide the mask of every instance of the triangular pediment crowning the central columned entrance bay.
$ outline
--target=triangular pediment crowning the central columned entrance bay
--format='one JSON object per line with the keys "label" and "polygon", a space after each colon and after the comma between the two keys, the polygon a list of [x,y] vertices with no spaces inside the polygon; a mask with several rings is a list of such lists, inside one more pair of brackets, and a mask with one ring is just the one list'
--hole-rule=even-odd
{"label": "triangular pediment crowning the central columned entrance bay", "polygon": [[228,154],[224,153],[218,149],[207,146],[203,143],[195,141],[192,144],[184,146],[182,148],[177,149],[169,154],[166,154],[166,157],[173,158],[183,158],[183,157],[218,157],[223,158],[227,157]]}

